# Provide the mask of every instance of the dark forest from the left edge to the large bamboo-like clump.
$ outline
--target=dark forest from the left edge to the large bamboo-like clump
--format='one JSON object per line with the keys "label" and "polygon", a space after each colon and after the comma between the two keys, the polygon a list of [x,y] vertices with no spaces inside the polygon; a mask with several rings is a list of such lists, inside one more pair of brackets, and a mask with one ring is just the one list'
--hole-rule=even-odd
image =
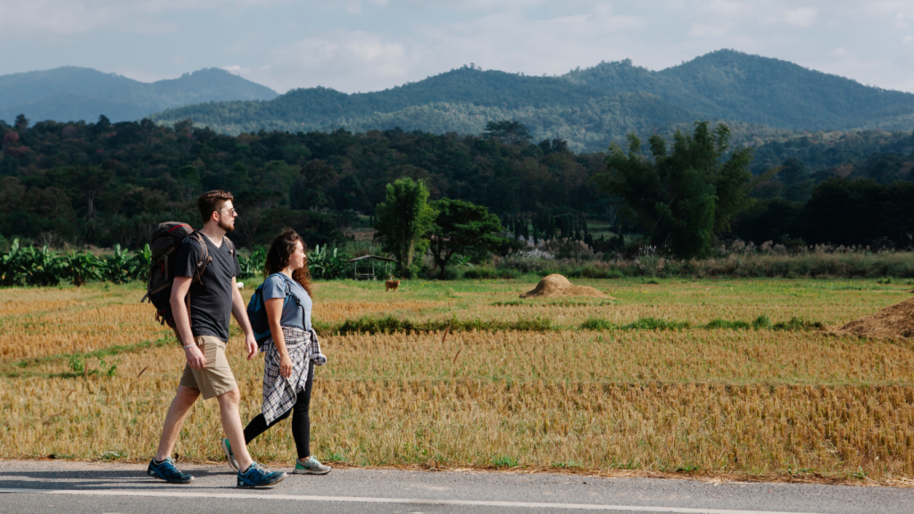
{"label": "dark forest from the left edge to the large bamboo-like clump", "polygon": [[269,242],[292,226],[306,241],[344,239],[399,177],[423,180],[430,198],[453,198],[498,216],[537,211],[600,216],[611,199],[590,186],[602,153],[574,154],[556,139],[478,135],[286,132],[228,136],[142,122],[0,122],[0,233],[59,244],[142,248],[162,220],[197,219],[202,191],[227,188],[241,216],[232,238]]}

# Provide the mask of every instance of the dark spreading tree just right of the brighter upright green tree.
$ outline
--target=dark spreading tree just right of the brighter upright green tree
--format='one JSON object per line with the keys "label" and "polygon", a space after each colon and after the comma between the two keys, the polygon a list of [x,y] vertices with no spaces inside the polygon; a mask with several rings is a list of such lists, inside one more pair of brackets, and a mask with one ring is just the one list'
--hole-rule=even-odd
{"label": "dark spreading tree just right of the brighter upright green tree", "polygon": [[502,223],[489,209],[451,198],[441,198],[430,206],[436,214],[429,249],[440,278],[444,278],[444,269],[454,253],[488,250],[497,243],[496,234],[502,231]]}

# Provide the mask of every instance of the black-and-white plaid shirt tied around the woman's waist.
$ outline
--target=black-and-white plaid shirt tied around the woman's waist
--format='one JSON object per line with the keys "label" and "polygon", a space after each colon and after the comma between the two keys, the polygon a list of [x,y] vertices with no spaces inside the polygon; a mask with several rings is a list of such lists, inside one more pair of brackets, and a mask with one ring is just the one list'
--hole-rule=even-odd
{"label": "black-and-white plaid shirt tied around the woman's waist", "polygon": [[327,358],[321,353],[321,344],[314,329],[282,327],[289,358],[292,359],[292,375],[288,379],[280,375],[280,352],[272,338],[260,348],[266,352],[263,359],[263,405],[261,412],[267,424],[292,409],[298,399],[298,392],[304,391],[308,380],[308,367],[314,363],[321,366]]}

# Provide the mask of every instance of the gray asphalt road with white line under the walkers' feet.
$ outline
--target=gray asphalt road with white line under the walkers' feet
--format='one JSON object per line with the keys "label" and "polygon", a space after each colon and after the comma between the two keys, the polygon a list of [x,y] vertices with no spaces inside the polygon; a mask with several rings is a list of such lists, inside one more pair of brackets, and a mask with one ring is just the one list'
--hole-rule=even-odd
{"label": "gray asphalt road with white line under the walkers' feet", "polygon": [[[228,466],[182,466],[197,479],[173,486],[145,466],[0,461],[0,512],[453,512],[910,514],[914,490],[552,474],[335,469],[239,489]],[[290,471],[290,470],[286,470]]]}

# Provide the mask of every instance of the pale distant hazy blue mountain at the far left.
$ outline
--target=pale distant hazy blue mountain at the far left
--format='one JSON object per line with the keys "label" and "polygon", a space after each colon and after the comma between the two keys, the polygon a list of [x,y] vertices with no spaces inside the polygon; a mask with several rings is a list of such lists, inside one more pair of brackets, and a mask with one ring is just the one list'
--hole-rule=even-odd
{"label": "pale distant hazy blue mountain at the far left", "polygon": [[139,120],[154,112],[200,102],[271,100],[276,91],[210,68],[152,83],[88,68],[63,67],[0,76],[0,120],[25,114],[32,122]]}

